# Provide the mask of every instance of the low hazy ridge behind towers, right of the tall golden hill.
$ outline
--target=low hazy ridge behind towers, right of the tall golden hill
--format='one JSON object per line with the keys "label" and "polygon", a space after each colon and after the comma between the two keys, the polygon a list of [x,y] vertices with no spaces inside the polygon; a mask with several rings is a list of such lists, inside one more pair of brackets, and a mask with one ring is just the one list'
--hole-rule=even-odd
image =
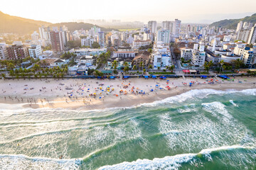
{"label": "low hazy ridge behind towers, right of the tall golden hill", "polygon": [[[50,27],[53,26],[57,26],[58,28],[60,28],[60,26],[66,26],[68,27],[68,30],[70,30],[71,32],[73,32],[74,30],[80,30],[80,29],[84,29],[84,30],[90,30],[90,28],[92,28],[93,24],[91,23],[54,23],[51,24]],[[100,26],[97,26],[97,28],[100,28],[101,31],[110,31],[113,30],[112,28],[102,28]]]}

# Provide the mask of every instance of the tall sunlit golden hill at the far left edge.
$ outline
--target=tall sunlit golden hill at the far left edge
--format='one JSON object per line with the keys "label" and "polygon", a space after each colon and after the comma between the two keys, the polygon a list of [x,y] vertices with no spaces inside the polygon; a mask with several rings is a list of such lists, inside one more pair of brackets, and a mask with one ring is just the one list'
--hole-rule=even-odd
{"label": "tall sunlit golden hill at the far left edge", "polygon": [[0,11],[0,33],[33,33],[34,30],[38,30],[38,27],[42,25],[48,26],[50,23],[21,18],[18,16],[10,16]]}

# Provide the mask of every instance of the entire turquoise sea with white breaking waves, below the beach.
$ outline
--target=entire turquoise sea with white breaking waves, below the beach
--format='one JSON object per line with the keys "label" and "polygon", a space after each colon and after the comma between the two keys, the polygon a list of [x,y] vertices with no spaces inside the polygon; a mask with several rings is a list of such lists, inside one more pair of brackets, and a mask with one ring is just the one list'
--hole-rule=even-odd
{"label": "entire turquoise sea with white breaking waves, below the beach", "polygon": [[0,169],[256,169],[255,96],[192,90],[98,111],[2,104]]}

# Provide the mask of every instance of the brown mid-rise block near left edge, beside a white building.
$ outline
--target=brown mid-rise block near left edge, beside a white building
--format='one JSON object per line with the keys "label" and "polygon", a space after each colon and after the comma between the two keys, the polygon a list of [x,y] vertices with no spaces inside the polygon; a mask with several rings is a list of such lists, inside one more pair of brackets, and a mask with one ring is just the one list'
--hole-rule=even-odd
{"label": "brown mid-rise block near left edge, beside a white building", "polygon": [[8,59],[9,60],[21,60],[28,55],[28,49],[23,45],[11,45],[7,47]]}

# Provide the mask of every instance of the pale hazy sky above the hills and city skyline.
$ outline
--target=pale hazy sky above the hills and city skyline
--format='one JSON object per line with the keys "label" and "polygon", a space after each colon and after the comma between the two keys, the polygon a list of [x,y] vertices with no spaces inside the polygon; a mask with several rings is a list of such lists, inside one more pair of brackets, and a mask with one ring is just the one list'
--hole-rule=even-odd
{"label": "pale hazy sky above the hills and city skyline", "polygon": [[86,19],[212,23],[256,13],[256,0],[0,0],[0,11],[50,23]]}

